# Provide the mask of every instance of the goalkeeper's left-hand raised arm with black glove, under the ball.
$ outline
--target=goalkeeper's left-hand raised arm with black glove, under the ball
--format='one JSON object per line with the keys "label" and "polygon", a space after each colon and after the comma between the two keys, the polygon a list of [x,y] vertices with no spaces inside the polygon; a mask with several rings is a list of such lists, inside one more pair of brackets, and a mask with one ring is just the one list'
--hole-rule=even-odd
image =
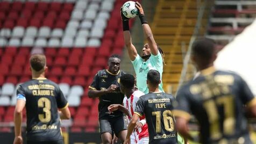
{"label": "goalkeeper's left-hand raised arm with black glove, under the ball", "polygon": [[121,13],[121,18],[122,18],[122,22],[123,22],[124,43],[127,48],[130,60],[134,61],[137,56],[137,50],[134,47],[134,45],[132,44],[132,37],[131,37],[131,33],[129,31],[129,18],[126,18],[123,15],[122,8],[121,8],[120,13]]}

